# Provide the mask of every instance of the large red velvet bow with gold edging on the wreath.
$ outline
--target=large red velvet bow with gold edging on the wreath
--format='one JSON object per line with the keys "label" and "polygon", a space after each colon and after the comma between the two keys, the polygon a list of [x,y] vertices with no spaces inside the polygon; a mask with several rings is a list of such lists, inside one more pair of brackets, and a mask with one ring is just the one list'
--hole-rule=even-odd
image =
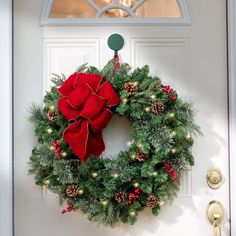
{"label": "large red velvet bow with gold edging on the wreath", "polygon": [[99,156],[105,145],[102,129],[112,117],[109,107],[118,105],[120,98],[109,82],[96,74],[74,73],[58,92],[60,112],[68,121],[74,121],[66,128],[63,139],[68,143],[81,162],[89,155]]}

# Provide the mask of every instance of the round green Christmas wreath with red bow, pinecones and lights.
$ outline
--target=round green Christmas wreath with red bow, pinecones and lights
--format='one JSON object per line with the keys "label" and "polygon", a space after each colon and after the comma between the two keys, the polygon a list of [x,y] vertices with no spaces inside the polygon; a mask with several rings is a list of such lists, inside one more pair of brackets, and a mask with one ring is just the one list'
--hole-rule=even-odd
{"label": "round green Christmas wreath with red bow, pinecones and lights", "polygon": [[[148,66],[132,71],[115,60],[52,82],[44,106],[31,107],[39,144],[29,172],[36,184],[58,194],[62,213],[80,210],[91,221],[133,224],[145,208],[157,215],[194,164],[192,136],[200,130],[191,104],[150,76]],[[113,114],[130,121],[131,141],[115,158],[102,158],[102,130]]]}

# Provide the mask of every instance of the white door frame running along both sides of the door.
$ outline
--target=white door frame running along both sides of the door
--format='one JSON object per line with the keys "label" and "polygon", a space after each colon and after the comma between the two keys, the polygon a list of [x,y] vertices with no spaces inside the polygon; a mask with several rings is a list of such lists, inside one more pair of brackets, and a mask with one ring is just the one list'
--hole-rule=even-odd
{"label": "white door frame running along both sides of the door", "polygon": [[[13,1],[0,0],[0,235],[14,235]],[[228,120],[231,235],[236,235],[236,2],[227,0]]]}

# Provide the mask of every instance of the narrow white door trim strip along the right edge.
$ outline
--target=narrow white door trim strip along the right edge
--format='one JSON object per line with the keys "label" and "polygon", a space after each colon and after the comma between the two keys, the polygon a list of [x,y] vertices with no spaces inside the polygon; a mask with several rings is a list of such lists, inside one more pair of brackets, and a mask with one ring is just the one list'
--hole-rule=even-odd
{"label": "narrow white door trim strip along the right edge", "polygon": [[236,2],[227,1],[228,17],[228,111],[231,235],[236,235]]}

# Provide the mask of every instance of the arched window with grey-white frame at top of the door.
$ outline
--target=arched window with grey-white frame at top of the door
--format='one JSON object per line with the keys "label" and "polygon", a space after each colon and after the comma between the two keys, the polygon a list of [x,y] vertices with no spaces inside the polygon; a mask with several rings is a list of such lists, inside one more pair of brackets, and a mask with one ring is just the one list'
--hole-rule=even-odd
{"label": "arched window with grey-white frame at top of the door", "polygon": [[[109,18],[109,19],[108,19]],[[48,0],[41,24],[190,23],[184,0]]]}

